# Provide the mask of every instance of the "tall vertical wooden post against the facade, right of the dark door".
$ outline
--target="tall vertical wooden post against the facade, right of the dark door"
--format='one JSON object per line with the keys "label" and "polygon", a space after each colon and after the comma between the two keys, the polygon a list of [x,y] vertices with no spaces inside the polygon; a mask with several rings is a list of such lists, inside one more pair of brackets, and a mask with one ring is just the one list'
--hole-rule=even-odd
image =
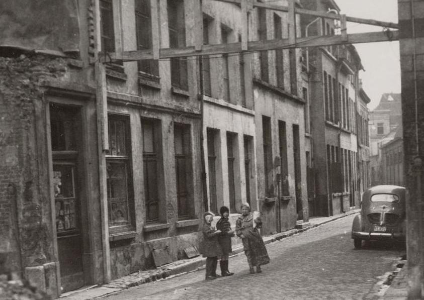
{"label": "tall vertical wooden post against the facade, right of the dark door", "polygon": [[111,281],[110,248],[109,248],[109,219],[108,198],[106,186],[106,151],[109,150],[108,132],[108,102],[106,85],[106,68],[99,60],[101,50],[101,24],[100,24],[100,0],[95,0],[95,77],[97,82],[96,104],[97,104],[97,142],[99,155],[99,190],[100,210],[102,218],[102,246],[103,246],[103,276],[104,283]]}

